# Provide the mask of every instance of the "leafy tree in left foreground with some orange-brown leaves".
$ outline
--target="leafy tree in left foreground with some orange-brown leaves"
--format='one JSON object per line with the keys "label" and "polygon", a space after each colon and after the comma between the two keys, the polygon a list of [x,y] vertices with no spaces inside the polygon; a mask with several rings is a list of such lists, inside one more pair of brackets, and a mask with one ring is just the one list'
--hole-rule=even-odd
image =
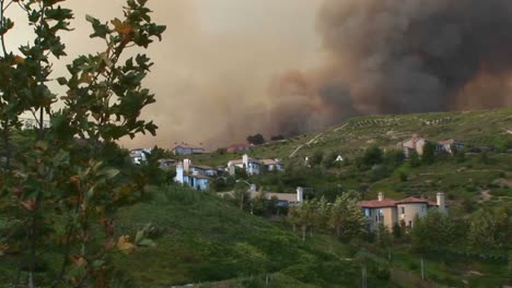
{"label": "leafy tree in left foreground with some orange-brown leaves", "polygon": [[[105,287],[113,277],[107,254],[133,249],[144,235],[133,240],[117,236],[113,213],[148,188],[147,177],[120,170],[118,154],[109,153],[121,137],[156,130],[153,122],[139,119],[154,103],[142,87],[152,63],[144,55],[125,53],[160,39],[165,26],[152,23],[146,0],[127,0],[124,19],[102,23],[88,16],[91,37],[103,39],[104,50],[78,57],[67,65],[70,76],[54,80],[51,61],[66,56],[59,34],[70,29],[73,17],[63,2],[0,0],[0,122],[7,158],[0,175],[0,213],[12,219],[7,244],[24,248],[14,255],[15,286],[25,277],[30,287],[40,286],[34,272],[49,245],[61,256],[60,267],[48,273],[56,276],[54,287]],[[26,14],[33,39],[9,51],[4,36],[14,24],[5,11],[16,8]],[[60,109],[49,88],[53,81],[67,89]],[[37,128],[34,141],[14,148],[12,134],[21,127],[22,113],[32,113]],[[91,230],[94,225],[103,235]]]}

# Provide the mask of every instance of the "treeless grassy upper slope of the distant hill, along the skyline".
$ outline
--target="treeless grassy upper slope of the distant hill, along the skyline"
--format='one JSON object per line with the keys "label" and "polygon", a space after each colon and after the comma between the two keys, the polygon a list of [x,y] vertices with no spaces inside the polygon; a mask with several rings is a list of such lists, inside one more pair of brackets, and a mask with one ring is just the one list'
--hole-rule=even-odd
{"label": "treeless grassy upper slope of the distant hill, along the skyline", "polygon": [[[336,152],[350,157],[371,145],[394,147],[396,143],[414,133],[432,141],[456,139],[473,146],[510,146],[512,107],[463,112],[361,116],[324,131],[295,136],[274,145],[258,146],[249,154],[257,158],[280,158],[284,163],[294,158],[311,157],[316,151]],[[298,152],[290,157],[295,149]],[[197,155],[193,159],[208,165],[225,165],[229,159],[238,158],[241,155],[212,153]]]}

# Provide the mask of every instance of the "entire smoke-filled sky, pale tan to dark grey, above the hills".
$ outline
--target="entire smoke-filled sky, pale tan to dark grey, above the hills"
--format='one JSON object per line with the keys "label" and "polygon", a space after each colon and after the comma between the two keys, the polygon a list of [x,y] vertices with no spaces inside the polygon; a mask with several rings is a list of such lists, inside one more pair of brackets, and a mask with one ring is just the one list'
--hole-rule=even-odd
{"label": "entire smoke-filled sky, pale tan to dark grey, above the hills", "polygon": [[[121,0],[68,0],[69,59],[93,52],[85,14],[121,14]],[[150,0],[167,25],[150,48],[143,116],[156,137],[216,147],[248,134],[295,134],[359,113],[512,105],[510,0]],[[10,36],[23,43],[22,26]],[[14,40],[15,39],[15,40]],[[8,38],[9,40],[9,38]],[[63,73],[56,69],[56,73]]]}

